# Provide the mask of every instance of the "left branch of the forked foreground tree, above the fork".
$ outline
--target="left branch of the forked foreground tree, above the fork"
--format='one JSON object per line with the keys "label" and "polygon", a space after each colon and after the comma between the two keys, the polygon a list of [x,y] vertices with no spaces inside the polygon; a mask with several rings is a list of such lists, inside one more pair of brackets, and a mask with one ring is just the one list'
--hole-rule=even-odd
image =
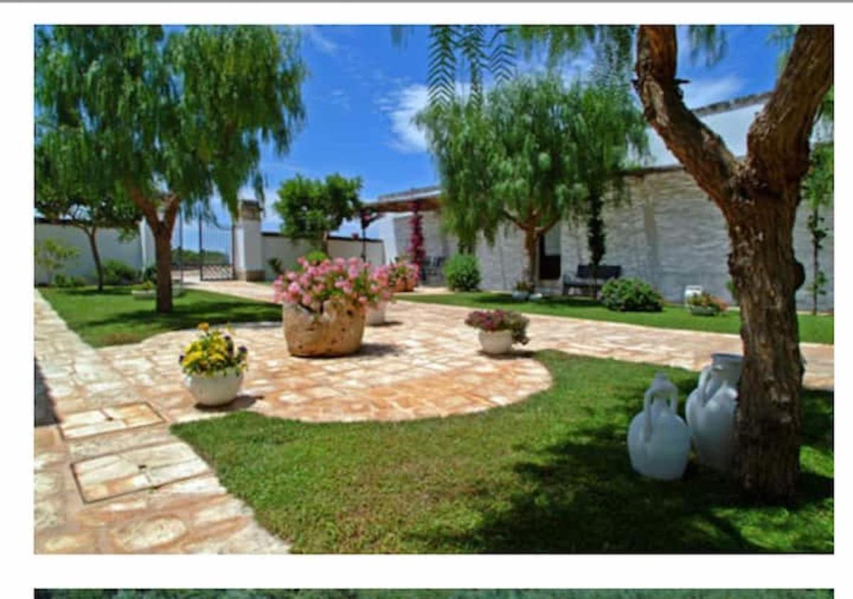
{"label": "left branch of the forked foreground tree, above the fork", "polygon": [[685,105],[676,79],[675,26],[642,25],[634,82],[644,113],[666,147],[721,208],[730,201],[739,163],[722,137]]}

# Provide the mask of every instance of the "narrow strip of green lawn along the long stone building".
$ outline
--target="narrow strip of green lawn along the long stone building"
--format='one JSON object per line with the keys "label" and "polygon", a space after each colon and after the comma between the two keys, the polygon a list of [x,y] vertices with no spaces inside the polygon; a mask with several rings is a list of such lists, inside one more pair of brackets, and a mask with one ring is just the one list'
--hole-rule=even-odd
{"label": "narrow strip of green lawn along the long stone building", "polygon": [[[712,333],[740,333],[740,312],[731,310],[716,317],[693,316],[681,306],[666,305],[660,312],[617,312],[607,310],[593,300],[554,297],[532,302],[513,300],[510,294],[478,292],[458,294],[397,294],[397,300],[425,304],[463,305],[479,310],[502,308],[527,314],[544,314],[612,323],[641,324],[660,329],[688,329]],[[800,340],[812,343],[833,343],[834,317],[811,314],[799,315]]]}

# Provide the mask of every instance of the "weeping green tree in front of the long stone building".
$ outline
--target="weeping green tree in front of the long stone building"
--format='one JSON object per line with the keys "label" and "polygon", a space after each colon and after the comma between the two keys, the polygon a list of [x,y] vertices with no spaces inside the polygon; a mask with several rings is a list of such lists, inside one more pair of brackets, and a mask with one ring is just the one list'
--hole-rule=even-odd
{"label": "weeping green tree in front of the long stone building", "polygon": [[524,236],[525,280],[537,281],[541,236],[577,205],[576,156],[566,137],[570,97],[560,79],[517,79],[484,102],[456,97],[417,117],[442,183],[442,217],[461,246],[490,244],[512,224]]}

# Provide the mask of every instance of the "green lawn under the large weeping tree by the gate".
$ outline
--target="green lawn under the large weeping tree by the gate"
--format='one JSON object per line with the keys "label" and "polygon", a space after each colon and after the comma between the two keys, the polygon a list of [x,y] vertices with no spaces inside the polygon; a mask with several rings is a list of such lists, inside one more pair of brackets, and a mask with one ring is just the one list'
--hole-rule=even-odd
{"label": "green lawn under the large weeping tree by the gate", "polygon": [[154,299],[137,300],[130,288],[41,288],[68,327],[93,347],[137,343],[154,334],[192,329],[198,323],[253,323],[281,320],[281,307],[232,295],[187,290],[174,311],[157,314]]}

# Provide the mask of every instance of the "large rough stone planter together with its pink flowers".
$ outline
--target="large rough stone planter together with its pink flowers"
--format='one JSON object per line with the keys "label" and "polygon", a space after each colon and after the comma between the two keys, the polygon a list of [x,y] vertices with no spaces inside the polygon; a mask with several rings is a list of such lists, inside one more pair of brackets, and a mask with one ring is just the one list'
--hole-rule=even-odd
{"label": "large rough stone planter together with its pink flowers", "polygon": [[276,279],[287,350],[294,356],[344,356],[362,345],[368,305],[380,294],[361,259],[310,263]]}

